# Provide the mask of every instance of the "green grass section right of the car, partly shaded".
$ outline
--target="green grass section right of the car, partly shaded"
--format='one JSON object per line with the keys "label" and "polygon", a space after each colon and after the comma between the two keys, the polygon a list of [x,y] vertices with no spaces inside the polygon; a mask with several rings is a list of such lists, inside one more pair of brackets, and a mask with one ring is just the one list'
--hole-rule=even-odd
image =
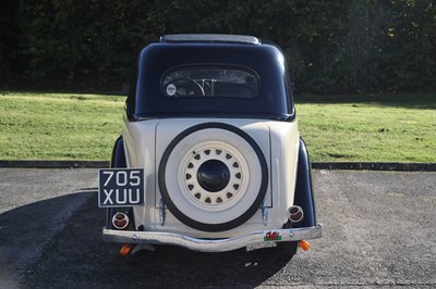
{"label": "green grass section right of the car, partly shaded", "polygon": [[436,95],[301,97],[314,161],[436,162]]}

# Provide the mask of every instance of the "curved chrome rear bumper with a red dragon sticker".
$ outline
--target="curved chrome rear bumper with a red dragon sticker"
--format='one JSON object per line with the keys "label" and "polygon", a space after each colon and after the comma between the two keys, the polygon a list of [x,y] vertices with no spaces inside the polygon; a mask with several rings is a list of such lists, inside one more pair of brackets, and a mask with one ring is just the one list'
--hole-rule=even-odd
{"label": "curved chrome rear bumper with a red dragon sticker", "polygon": [[322,237],[322,228],[323,225],[318,224],[307,228],[257,230],[228,239],[198,239],[173,233],[112,230],[105,227],[102,239],[120,243],[171,244],[194,251],[223,252],[262,242],[316,239]]}

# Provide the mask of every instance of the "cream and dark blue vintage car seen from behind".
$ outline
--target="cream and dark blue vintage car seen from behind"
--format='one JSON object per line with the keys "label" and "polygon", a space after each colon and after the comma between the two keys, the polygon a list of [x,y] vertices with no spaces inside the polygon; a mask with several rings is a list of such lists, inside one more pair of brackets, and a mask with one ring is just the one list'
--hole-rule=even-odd
{"label": "cream and dark blue vintage car seen from behind", "polygon": [[98,197],[104,240],[124,255],[153,244],[306,249],[322,225],[281,50],[237,35],[147,45]]}

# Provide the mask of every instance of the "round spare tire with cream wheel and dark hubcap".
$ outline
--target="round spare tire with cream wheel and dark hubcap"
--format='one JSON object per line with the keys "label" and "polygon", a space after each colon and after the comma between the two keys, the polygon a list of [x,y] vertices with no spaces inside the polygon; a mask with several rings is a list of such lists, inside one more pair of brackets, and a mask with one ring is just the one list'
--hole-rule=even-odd
{"label": "round spare tire with cream wheel and dark hubcap", "polygon": [[169,143],[158,183],[165,204],[180,222],[203,231],[223,231],[259,209],[268,168],[249,134],[228,124],[204,123]]}

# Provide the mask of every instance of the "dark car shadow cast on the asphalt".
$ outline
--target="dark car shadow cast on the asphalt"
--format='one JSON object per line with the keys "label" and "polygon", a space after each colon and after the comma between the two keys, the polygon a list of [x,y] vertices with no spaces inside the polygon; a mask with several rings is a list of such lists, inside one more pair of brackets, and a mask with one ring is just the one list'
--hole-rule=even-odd
{"label": "dark car shadow cast on the asphalt", "polygon": [[[89,196],[92,193],[92,196]],[[49,239],[38,240],[50,216],[50,208],[68,205],[72,198],[87,198]],[[244,249],[223,253],[202,253],[177,247],[157,247],[135,256],[118,254],[121,244],[101,240],[106,212],[97,208],[95,192],[85,191],[28,204],[0,215],[0,221],[21,219],[20,233],[9,228],[7,247],[14,248],[13,236],[38,240],[40,248],[33,262],[21,271],[24,287],[254,287],[289,263],[276,248]],[[23,227],[27,229],[23,230]],[[16,230],[16,231],[14,231]],[[24,239],[23,239],[24,238]],[[20,246],[20,244],[16,244]],[[10,250],[11,251],[11,250]],[[17,248],[12,250],[16,254]],[[9,257],[13,257],[10,255]]]}

